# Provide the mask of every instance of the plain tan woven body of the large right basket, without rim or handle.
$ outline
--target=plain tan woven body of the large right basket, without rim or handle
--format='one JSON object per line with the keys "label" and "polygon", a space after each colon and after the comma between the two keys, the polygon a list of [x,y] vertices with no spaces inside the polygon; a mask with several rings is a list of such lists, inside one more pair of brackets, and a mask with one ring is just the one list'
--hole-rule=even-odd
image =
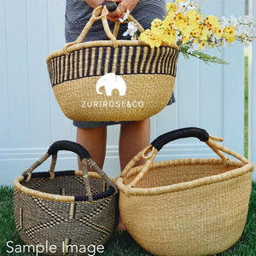
{"label": "plain tan woven body of the large right basket, without rim or handle", "polygon": [[[239,240],[246,224],[251,172],[192,189],[186,189],[183,180],[187,181],[193,173],[209,175],[211,170],[212,174],[218,175],[217,172],[223,173],[225,168],[224,165],[210,164],[153,167],[137,183],[137,188],[145,190],[142,195],[119,192],[119,211],[126,229],[146,251],[156,255],[224,252]],[[226,172],[232,171],[226,168]],[[184,188],[159,195],[147,194],[147,189],[155,189],[163,179],[167,183],[168,177],[169,183],[174,179],[175,183],[183,183]]]}

